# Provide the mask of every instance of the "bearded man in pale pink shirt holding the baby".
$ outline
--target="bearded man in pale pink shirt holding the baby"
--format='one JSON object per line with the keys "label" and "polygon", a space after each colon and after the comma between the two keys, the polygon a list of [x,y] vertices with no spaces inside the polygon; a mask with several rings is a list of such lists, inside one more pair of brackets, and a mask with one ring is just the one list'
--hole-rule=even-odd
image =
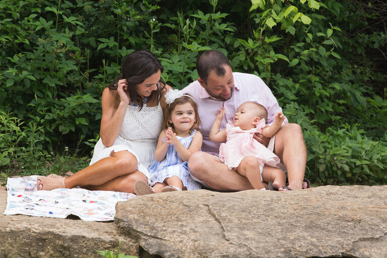
{"label": "bearded man in pale pink shirt holding the baby", "polygon": [[[204,52],[196,63],[199,77],[182,91],[195,98],[202,120],[202,152],[196,152],[188,160],[191,175],[204,185],[216,190],[253,189],[246,177],[229,170],[219,159],[220,143],[208,138],[216,112],[225,108],[221,130],[232,120],[238,106],[246,101],[262,104],[268,110],[268,124],[274,122],[278,111],[282,112],[276,98],[261,78],[242,73],[232,73],[231,63],[220,51]],[[274,185],[278,190],[295,190],[307,187],[303,182],[306,165],[306,147],[298,124],[288,123],[287,118],[278,133],[271,139],[255,135],[256,141],[272,150],[286,166],[289,185]]]}

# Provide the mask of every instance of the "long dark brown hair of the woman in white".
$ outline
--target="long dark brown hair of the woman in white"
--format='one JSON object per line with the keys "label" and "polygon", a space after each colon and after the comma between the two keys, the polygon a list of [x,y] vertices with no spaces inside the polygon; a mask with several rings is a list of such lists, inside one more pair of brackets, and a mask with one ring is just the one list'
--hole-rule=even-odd
{"label": "long dark brown hair of the woman in white", "polygon": [[[158,71],[161,73],[164,68],[161,66],[159,59],[151,52],[145,49],[138,49],[125,56],[122,62],[121,74],[115,78],[115,84],[118,80],[126,79],[127,90],[131,95],[131,101],[140,105],[140,110],[144,106],[144,102],[137,93],[137,85],[143,83],[147,78],[156,74]],[[109,85],[109,89],[114,88],[114,84]],[[165,82],[160,78],[157,90],[152,91],[148,97],[148,101],[158,99],[160,101],[161,93],[165,90]]]}

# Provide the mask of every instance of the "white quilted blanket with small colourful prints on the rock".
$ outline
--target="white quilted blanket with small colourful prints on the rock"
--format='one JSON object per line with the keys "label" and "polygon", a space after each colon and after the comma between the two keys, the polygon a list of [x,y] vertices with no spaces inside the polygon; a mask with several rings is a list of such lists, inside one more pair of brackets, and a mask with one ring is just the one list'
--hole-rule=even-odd
{"label": "white quilted blanket with small colourful prints on the rock", "polygon": [[5,215],[66,218],[73,214],[86,221],[114,220],[115,204],[136,197],[133,193],[90,191],[82,188],[37,191],[37,175],[7,179]]}

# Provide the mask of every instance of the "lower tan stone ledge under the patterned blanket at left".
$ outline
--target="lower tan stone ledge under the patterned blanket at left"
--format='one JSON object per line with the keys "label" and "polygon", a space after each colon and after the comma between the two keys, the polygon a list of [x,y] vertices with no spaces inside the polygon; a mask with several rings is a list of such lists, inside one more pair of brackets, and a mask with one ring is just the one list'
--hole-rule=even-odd
{"label": "lower tan stone ledge under the patterned blanket at left", "polygon": [[103,257],[96,250],[113,250],[121,239],[121,252],[137,255],[139,245],[121,236],[112,222],[4,215],[7,191],[0,186],[0,258]]}

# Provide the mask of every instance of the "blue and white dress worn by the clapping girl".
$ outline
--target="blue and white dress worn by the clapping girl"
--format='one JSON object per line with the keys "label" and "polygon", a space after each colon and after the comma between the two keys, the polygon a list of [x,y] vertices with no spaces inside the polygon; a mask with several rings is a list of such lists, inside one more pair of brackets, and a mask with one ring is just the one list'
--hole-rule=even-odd
{"label": "blue and white dress worn by the clapping girl", "polygon": [[[192,137],[195,135],[196,130],[193,130],[192,134],[188,137],[179,137],[176,136],[180,143],[188,149],[189,145],[192,142]],[[165,137],[163,142],[165,141]],[[188,162],[183,162],[179,155],[176,152],[175,147],[170,144],[168,147],[168,152],[163,161],[155,161],[149,167],[149,173],[151,174],[151,186],[155,185],[157,182],[164,182],[165,178],[171,177],[173,175],[178,176],[183,185],[187,187],[187,190],[198,190],[202,187],[200,184],[193,180],[188,172],[187,167]]]}

